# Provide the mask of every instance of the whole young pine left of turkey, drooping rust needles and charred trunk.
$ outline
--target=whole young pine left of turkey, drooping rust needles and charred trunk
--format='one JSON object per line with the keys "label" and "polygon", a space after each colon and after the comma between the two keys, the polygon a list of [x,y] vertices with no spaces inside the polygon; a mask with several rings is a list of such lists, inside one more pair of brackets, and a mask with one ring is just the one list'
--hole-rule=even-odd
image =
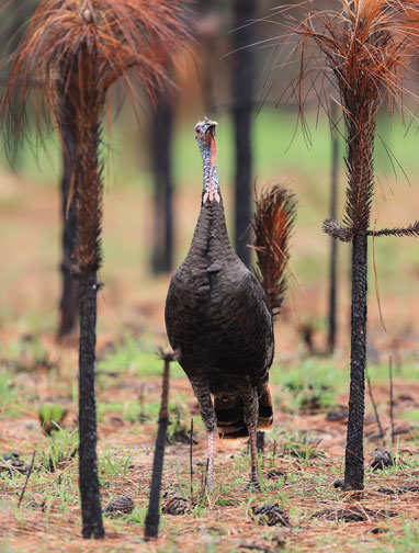
{"label": "whole young pine left of turkey, drooping rust needles and charred trunk", "polygon": [[[34,109],[37,131],[53,122],[73,147],[72,194],[77,244],[73,274],[80,291],[79,486],[83,538],[104,535],[97,460],[94,395],[98,270],[101,266],[103,160],[101,125],[107,91],[122,81],[134,102],[140,87],[151,99],[168,81],[154,49],[171,59],[188,31],[178,0],[43,0],[12,55],[0,101],[9,147],[16,146]],[[33,84],[36,83],[34,87]]]}

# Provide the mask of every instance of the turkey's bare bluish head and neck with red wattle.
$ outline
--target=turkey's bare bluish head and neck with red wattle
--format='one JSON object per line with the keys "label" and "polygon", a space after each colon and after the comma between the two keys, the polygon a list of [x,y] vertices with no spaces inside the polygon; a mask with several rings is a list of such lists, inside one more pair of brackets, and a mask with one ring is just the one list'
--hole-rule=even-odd
{"label": "turkey's bare bluish head and neck with red wattle", "polygon": [[195,140],[200,147],[202,160],[204,162],[204,189],[202,192],[202,203],[215,200],[219,203],[219,177],[216,166],[217,146],[215,143],[216,121],[204,117],[195,125]]}

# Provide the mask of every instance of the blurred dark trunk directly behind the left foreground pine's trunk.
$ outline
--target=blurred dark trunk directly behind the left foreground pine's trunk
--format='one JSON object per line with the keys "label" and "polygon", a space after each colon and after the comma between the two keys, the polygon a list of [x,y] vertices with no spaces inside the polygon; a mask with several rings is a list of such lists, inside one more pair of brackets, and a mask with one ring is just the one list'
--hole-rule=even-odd
{"label": "blurred dark trunk directly behind the left foreground pine's trunk", "polygon": [[76,204],[73,201],[76,191],[76,174],[73,171],[75,135],[68,125],[64,124],[63,134],[63,178],[61,178],[61,300],[59,303],[60,320],[58,338],[70,335],[77,325],[79,311],[79,283],[72,275],[72,255],[75,252],[76,229]]}

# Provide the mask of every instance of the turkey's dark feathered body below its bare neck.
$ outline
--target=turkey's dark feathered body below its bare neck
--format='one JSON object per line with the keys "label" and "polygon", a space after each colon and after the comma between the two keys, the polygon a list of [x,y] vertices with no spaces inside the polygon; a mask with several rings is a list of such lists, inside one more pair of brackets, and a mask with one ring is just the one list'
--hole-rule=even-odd
{"label": "turkey's dark feathered body below its bare neck", "polygon": [[201,206],[191,248],[170,283],[166,325],[208,431],[216,424],[210,392],[225,437],[247,436],[258,416],[270,426],[272,409],[264,405],[264,417],[258,398],[270,402],[272,317],[259,281],[231,247],[222,200]]}

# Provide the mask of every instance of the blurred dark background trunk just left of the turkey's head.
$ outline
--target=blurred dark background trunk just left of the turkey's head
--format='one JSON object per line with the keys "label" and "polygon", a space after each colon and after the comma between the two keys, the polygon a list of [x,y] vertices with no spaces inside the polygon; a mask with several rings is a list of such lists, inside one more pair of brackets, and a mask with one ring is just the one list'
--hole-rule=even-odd
{"label": "blurred dark background trunk just left of the turkey's head", "polygon": [[171,142],[173,102],[162,94],[158,103],[151,137],[151,158],[155,179],[155,229],[152,271],[169,272],[173,268],[173,178]]}

